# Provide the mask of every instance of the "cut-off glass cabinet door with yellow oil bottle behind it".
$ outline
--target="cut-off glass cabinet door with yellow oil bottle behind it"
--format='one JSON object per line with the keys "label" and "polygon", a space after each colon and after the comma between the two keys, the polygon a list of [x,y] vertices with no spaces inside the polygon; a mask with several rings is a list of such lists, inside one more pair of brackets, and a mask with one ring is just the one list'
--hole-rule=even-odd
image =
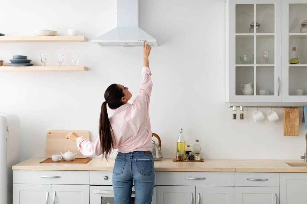
{"label": "cut-off glass cabinet door with yellow oil bottle behind it", "polygon": [[307,1],[282,1],[282,102],[307,101]]}

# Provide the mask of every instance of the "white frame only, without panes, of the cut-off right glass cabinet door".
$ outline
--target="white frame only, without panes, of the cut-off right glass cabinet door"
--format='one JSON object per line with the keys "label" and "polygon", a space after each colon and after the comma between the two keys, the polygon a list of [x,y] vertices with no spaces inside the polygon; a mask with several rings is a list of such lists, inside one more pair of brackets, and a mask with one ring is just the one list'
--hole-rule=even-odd
{"label": "white frame only, without panes, of the cut-off right glass cabinet door", "polygon": [[289,64],[289,4],[307,4],[307,2],[305,0],[282,0],[282,102],[306,102],[307,95],[289,95],[289,66],[300,66],[300,64]]}

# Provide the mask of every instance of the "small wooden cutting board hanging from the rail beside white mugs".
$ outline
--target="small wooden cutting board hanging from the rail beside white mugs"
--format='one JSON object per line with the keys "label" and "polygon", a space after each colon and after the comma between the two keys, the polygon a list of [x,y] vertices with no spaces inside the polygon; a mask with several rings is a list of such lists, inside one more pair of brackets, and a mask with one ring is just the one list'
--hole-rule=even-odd
{"label": "small wooden cutting board hanging from the rail beside white mugs", "polygon": [[284,109],[284,136],[297,136],[299,130],[298,108]]}

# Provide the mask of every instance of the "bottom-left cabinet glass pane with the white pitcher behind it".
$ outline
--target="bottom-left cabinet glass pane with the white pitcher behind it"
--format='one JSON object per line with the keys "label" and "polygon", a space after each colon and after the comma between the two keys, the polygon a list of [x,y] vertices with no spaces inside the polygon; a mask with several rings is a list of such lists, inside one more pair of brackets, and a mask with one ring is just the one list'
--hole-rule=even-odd
{"label": "bottom-left cabinet glass pane with the white pitcher behind it", "polygon": [[254,67],[235,68],[235,95],[254,95]]}

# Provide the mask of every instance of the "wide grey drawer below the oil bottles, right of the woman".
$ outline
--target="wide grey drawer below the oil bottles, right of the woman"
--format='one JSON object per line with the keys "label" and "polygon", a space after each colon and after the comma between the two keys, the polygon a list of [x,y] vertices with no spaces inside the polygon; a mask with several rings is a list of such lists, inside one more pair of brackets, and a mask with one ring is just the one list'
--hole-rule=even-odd
{"label": "wide grey drawer below the oil bottles, right of the woman", "polygon": [[157,185],[235,186],[234,172],[156,172]]}

